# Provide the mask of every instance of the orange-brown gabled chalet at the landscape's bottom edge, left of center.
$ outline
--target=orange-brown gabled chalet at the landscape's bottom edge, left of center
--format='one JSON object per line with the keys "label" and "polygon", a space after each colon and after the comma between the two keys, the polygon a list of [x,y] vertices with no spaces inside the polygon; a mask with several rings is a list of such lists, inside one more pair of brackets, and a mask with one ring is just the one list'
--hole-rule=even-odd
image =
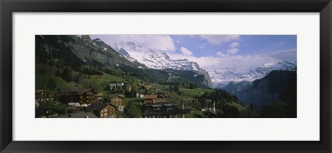
{"label": "orange-brown gabled chalet at the landscape's bottom edge, left of center", "polygon": [[110,103],[102,103],[93,110],[93,114],[99,118],[114,117],[116,114],[116,106],[111,105]]}

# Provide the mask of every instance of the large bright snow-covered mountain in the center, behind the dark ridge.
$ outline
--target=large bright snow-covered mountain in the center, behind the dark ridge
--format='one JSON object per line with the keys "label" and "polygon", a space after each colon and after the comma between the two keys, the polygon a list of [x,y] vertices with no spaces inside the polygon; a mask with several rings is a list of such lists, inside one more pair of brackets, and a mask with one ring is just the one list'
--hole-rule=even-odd
{"label": "large bright snow-covered mountain in the center, behind the dark ridge", "polygon": [[156,70],[184,70],[201,74],[204,76],[204,82],[212,88],[212,81],[209,73],[201,68],[196,62],[187,59],[172,60],[164,50],[145,48],[132,41],[118,43],[114,48],[129,61],[142,63],[146,65],[147,68]]}

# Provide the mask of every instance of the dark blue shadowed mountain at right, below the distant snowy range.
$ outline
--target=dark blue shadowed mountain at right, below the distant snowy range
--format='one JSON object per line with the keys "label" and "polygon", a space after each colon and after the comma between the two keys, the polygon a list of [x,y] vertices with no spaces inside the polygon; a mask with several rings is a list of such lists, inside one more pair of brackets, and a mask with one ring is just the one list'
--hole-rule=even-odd
{"label": "dark blue shadowed mountain at right, below the distant snowy range", "polygon": [[272,70],[262,79],[257,79],[252,83],[248,83],[248,81],[232,82],[224,89],[237,95],[241,103],[261,108],[275,101],[284,101],[281,96],[290,89],[295,89],[296,94],[296,76],[296,71]]}

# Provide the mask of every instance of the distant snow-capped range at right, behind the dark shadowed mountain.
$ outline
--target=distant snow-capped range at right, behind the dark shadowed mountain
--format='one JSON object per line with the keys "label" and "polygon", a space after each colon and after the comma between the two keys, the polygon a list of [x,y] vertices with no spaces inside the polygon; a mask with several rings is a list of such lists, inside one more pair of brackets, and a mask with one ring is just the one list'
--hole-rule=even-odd
{"label": "distant snow-capped range at right, behind the dark shadowed mountain", "polygon": [[[212,85],[214,88],[222,88],[230,82],[255,81],[261,79],[272,70],[296,71],[296,61],[279,61],[277,63],[266,63],[258,68],[248,68],[245,71],[239,71],[234,68],[223,68],[221,70],[208,70]],[[205,68],[206,70],[206,68]]]}

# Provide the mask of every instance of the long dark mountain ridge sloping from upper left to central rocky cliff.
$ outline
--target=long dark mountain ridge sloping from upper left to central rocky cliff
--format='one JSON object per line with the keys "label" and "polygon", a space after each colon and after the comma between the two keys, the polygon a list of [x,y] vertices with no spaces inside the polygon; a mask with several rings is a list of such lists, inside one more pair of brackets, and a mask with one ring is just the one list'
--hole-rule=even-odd
{"label": "long dark mountain ridge sloping from upper left to central rocky cliff", "polygon": [[[129,53],[126,50],[118,52],[104,41],[91,39],[86,35],[36,35],[35,40],[36,73],[41,75],[55,74],[59,76],[66,67],[70,67],[75,72],[83,72],[82,70],[85,68],[89,74],[105,72],[115,74],[123,79],[134,76],[148,79],[151,83],[190,82],[195,83],[199,88],[210,88],[210,78],[207,78],[204,75],[205,71],[200,70],[199,65],[195,63],[191,64],[197,68],[197,71],[148,68],[135,59],[127,59],[126,54]],[[180,65],[188,61],[178,60],[176,62]],[[89,69],[87,69],[87,65]]]}

